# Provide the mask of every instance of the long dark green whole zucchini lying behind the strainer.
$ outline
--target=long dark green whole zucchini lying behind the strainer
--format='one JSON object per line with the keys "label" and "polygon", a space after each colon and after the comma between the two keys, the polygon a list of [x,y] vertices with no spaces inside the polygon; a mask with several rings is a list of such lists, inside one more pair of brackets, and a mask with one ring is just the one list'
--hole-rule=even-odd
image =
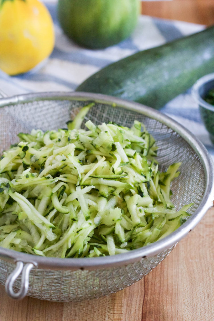
{"label": "long dark green whole zucchini lying behind the strainer", "polygon": [[76,91],[102,93],[159,109],[211,72],[214,26],[108,65]]}

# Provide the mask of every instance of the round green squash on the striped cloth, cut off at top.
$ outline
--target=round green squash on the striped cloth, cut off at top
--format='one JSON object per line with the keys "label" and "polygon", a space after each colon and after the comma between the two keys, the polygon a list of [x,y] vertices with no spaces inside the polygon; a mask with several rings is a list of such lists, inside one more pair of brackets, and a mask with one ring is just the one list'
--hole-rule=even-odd
{"label": "round green squash on the striped cloth, cut off at top", "polygon": [[140,13],[139,0],[59,0],[58,18],[64,33],[92,49],[126,39]]}

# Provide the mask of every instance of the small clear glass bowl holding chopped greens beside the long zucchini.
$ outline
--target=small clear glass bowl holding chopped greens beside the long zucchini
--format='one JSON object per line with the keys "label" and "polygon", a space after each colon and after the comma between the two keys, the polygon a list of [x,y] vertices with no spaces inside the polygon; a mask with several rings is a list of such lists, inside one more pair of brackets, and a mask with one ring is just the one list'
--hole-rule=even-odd
{"label": "small clear glass bowl holding chopped greens beside the long zucchini", "polygon": [[214,73],[208,74],[195,82],[192,94],[199,104],[201,119],[214,144],[214,106],[204,100],[211,89],[214,89]]}

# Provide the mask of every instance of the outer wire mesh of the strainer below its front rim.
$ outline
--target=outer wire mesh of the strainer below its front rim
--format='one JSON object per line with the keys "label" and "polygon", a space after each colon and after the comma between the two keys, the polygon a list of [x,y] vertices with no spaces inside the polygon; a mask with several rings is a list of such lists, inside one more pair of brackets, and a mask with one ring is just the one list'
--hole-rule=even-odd
{"label": "outer wire mesh of the strainer below its front rim", "polygon": [[[99,298],[117,292],[132,285],[148,274],[172,250],[157,256],[141,259],[139,262],[110,269],[94,271],[53,271],[33,269],[30,273],[28,295],[50,301],[82,301]],[[0,260],[0,283],[5,284],[7,277],[14,270],[14,265]],[[15,289],[20,289],[21,277],[16,281]]]}

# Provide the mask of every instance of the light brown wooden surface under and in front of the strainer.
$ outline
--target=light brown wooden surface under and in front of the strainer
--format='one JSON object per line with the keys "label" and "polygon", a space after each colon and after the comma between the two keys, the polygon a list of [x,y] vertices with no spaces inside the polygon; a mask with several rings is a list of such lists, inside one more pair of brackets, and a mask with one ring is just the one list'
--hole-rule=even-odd
{"label": "light brown wooden surface under and in front of the strainer", "polygon": [[152,272],[108,297],[56,303],[9,299],[0,321],[213,321],[214,208]]}

